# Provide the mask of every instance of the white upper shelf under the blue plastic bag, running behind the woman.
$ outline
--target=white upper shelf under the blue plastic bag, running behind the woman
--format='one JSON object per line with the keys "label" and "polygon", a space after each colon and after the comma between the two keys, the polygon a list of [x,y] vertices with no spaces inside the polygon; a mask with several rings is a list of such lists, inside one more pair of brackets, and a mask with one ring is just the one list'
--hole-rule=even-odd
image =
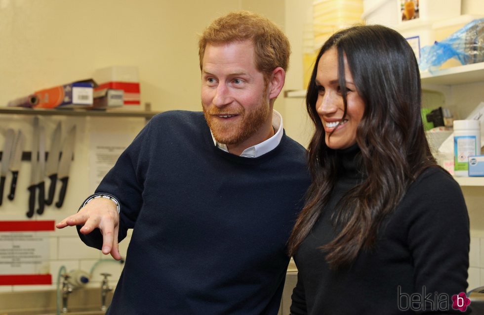
{"label": "white upper shelf under the blue plastic bag, running behind the woman", "polygon": [[[430,73],[420,73],[422,85],[458,85],[484,81],[484,62],[442,69]],[[287,98],[304,98],[306,90],[287,90],[284,92]]]}

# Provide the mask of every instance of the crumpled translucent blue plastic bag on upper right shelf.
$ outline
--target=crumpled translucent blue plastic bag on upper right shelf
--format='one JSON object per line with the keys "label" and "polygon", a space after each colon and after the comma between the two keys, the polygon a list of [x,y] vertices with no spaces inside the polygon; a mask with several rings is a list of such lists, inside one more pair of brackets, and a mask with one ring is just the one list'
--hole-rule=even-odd
{"label": "crumpled translucent blue plastic bag on upper right shelf", "polygon": [[420,71],[438,70],[448,59],[461,64],[484,61],[484,18],[474,20],[441,42],[420,49]]}

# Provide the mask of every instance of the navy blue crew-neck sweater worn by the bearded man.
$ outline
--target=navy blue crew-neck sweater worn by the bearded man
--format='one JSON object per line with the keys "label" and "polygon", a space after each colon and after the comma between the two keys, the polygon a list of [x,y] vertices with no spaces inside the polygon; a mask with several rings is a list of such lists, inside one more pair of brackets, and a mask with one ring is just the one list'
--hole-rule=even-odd
{"label": "navy blue crew-neck sweater worn by the bearded man", "polygon": [[[96,190],[121,202],[119,240],[134,228],[107,314],[277,314],[309,181],[286,135],[244,158],[214,146],[201,112],[153,117]],[[99,230],[81,238],[101,248]]]}

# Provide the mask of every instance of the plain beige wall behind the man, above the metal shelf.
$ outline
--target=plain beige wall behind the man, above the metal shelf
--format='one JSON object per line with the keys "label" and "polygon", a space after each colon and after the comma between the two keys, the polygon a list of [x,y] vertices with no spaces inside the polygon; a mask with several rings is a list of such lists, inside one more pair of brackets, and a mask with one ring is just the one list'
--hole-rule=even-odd
{"label": "plain beige wall behind the man, above the metal shelf", "polygon": [[[286,87],[300,89],[298,45],[303,21],[299,19],[305,18],[310,4],[310,0],[0,0],[0,106],[35,90],[90,78],[98,68],[134,65],[139,69],[142,105],[151,102],[155,111],[200,110],[198,34],[215,17],[238,9],[260,12],[286,29],[293,49]],[[287,107],[281,95],[276,109],[287,121],[286,132],[304,143],[305,136],[297,130],[300,101]]]}

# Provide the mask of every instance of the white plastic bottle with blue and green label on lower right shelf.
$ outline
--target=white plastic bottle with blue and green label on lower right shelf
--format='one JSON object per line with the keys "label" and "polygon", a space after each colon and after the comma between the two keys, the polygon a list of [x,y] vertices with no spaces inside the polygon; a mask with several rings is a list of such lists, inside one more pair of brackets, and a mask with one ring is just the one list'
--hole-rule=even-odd
{"label": "white plastic bottle with blue and green label on lower right shelf", "polygon": [[469,156],[481,154],[479,120],[454,120],[454,174],[469,176]]}

